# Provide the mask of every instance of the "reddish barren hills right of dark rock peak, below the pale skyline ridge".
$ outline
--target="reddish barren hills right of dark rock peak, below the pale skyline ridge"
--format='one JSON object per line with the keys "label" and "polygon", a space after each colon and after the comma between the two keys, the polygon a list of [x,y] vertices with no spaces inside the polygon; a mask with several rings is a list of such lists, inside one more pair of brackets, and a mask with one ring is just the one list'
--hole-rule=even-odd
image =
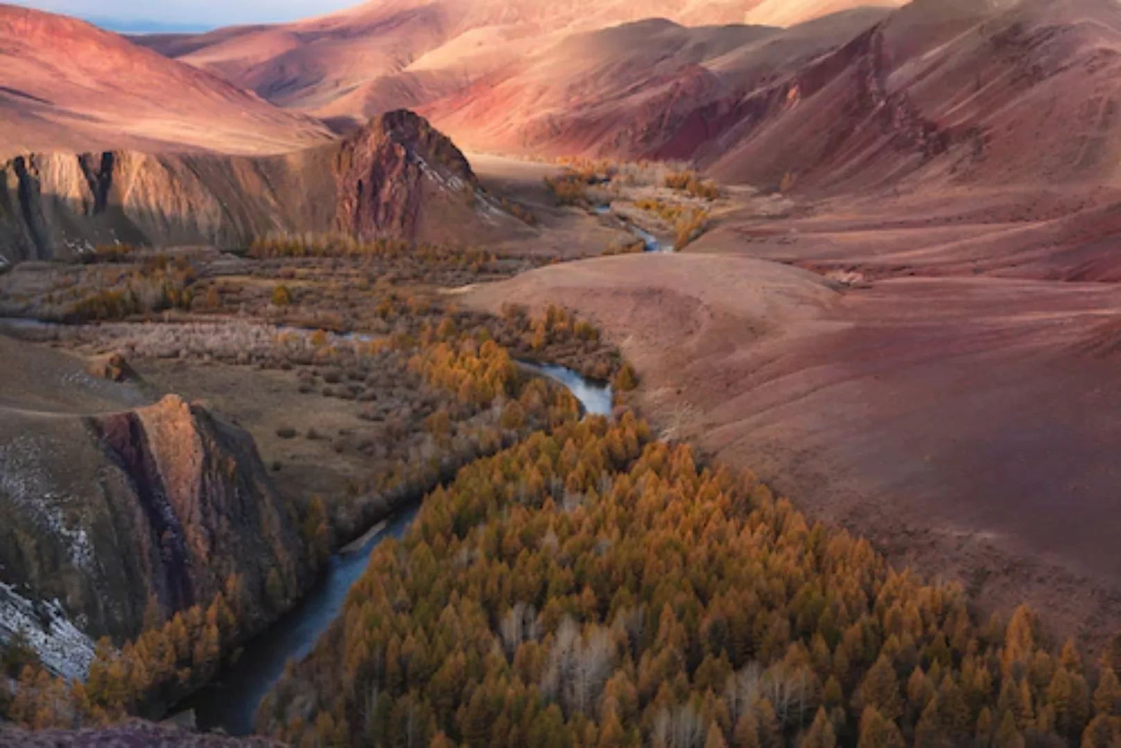
{"label": "reddish barren hills right of dark rock peak, below the pale skyline ridge", "polygon": [[469,148],[684,158],[762,187],[1101,183],[1119,53],[1111,0],[917,0],[788,29],[645,21],[539,48],[423,111]]}

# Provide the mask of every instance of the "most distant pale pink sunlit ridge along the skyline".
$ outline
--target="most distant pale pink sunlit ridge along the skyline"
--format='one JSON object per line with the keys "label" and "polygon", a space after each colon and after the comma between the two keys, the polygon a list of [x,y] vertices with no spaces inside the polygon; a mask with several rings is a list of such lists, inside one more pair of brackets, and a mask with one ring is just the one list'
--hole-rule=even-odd
{"label": "most distant pale pink sunlit ridge along the skyline", "polygon": [[[856,4],[786,2],[779,20],[798,22]],[[761,0],[374,0],[297,24],[136,40],[280,105],[345,123],[460,92],[573,34],[650,18],[687,26],[762,22],[752,11],[767,13],[767,6]]]}

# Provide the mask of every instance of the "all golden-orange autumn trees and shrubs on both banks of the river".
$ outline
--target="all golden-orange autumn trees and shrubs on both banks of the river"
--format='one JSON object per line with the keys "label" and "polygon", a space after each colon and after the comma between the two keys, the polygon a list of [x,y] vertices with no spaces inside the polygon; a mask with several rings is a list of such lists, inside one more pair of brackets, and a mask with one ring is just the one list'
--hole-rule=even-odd
{"label": "all golden-orange autumn trees and shrubs on both banks of the river", "polygon": [[[368,446],[341,442],[373,458],[362,485],[294,505],[313,563],[393,501],[427,493],[404,541],[379,546],[344,614],[288,667],[260,731],[298,746],[1121,740],[1121,639],[1087,662],[1027,608],[979,619],[958,586],[890,569],[865,541],[654,439],[629,411],[578,420],[567,393],[516,359],[633,389],[593,326],[559,308],[464,311],[435,290],[442,273],[469,280],[522,260],[472,255],[464,268],[438,252],[418,262],[285,242],[229,268],[105,263],[182,273],[198,286],[192,318],[323,324],[259,348],[175,340],[176,355],[285,372],[294,390],[363,404],[355,418],[379,424]],[[57,292],[19,303],[58,303]],[[269,585],[282,597],[282,580]],[[231,578],[206,605],[152,606],[136,641],[99,643],[84,684],[52,676],[17,637],[0,712],[33,728],[156,714],[235,652],[239,598]]]}

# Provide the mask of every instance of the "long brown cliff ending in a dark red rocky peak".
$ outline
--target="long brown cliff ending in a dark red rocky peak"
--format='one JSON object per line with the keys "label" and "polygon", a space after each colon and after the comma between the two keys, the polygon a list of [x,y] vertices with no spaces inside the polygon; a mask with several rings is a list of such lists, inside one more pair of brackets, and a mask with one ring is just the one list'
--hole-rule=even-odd
{"label": "long brown cliff ending in a dark red rocky peak", "polygon": [[282,156],[30,153],[0,162],[0,255],[96,244],[244,246],[276,233],[483,239],[498,224],[466,159],[407,111]]}

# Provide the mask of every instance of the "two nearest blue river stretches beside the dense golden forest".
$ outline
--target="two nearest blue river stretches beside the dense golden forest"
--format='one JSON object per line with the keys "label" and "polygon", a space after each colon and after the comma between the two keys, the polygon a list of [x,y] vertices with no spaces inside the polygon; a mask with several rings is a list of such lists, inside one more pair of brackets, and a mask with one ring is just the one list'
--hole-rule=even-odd
{"label": "two nearest blue river stretches beside the dense golden forest", "polygon": [[[595,384],[563,366],[521,364],[563,384],[580,401],[585,413],[610,415],[611,386]],[[401,537],[413,524],[419,506],[395,515],[381,533],[360,549],[332,557],[324,578],[281,620],[245,645],[237,663],[184,700],[176,711],[193,709],[200,730],[224,730],[229,735],[249,735],[258,704],[280,680],[289,658],[300,660],[339,616],[346,593],[369,565],[373,549],[386,537]]]}

